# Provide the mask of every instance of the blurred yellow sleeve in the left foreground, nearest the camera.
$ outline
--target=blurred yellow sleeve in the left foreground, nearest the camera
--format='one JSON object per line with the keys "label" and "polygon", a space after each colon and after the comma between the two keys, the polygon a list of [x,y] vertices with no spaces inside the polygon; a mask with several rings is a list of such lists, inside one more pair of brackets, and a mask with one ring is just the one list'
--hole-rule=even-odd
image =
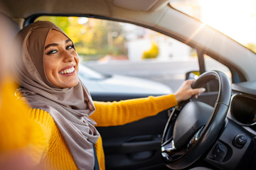
{"label": "blurred yellow sleeve in the left foreground, nearest the camera", "polygon": [[1,87],[0,106],[0,152],[1,154],[23,150],[38,164],[46,149],[47,136],[43,125],[33,120],[27,104],[14,95],[13,81]]}

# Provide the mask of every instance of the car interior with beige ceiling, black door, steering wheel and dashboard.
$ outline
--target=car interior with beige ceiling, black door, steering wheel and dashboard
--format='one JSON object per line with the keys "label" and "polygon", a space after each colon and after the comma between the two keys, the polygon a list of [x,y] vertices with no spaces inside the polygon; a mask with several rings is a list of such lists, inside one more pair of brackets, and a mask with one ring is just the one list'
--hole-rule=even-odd
{"label": "car interior with beige ceiling, black door, steering wheel and dashboard", "polygon": [[[186,79],[200,74],[193,88],[206,92],[134,123],[98,127],[106,169],[256,169],[252,50],[172,8],[169,0],[0,0],[0,6],[17,32],[39,16],[78,16],[132,23],[196,50],[198,70],[186,72]],[[209,70],[206,56],[227,67],[230,77],[218,67]],[[151,94],[91,95],[95,101],[121,101]]]}

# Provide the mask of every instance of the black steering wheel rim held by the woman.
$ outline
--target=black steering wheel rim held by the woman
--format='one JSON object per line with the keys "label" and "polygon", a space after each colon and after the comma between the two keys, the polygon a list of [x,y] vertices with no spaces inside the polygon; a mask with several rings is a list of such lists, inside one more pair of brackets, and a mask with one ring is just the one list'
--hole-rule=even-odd
{"label": "black steering wheel rim held by the woman", "polygon": [[[218,98],[215,102],[213,113],[211,113],[206,125],[202,126],[192,137],[192,140],[190,140],[187,147],[185,147],[185,150],[184,148],[176,149],[174,144],[173,134],[174,124],[177,119],[177,114],[175,114],[176,109],[171,113],[170,118],[166,123],[166,128],[161,141],[161,155],[166,162],[166,166],[171,169],[184,169],[190,166],[196,162],[201,155],[206,153],[207,149],[213,145],[215,140],[217,140],[230,105],[231,87],[228,77],[220,71],[205,72],[193,82],[192,88],[202,87],[208,81],[213,79],[217,79],[219,84]],[[169,140],[166,140],[166,136],[168,136],[169,133],[171,133],[171,137],[168,137]],[[177,152],[182,152],[182,154],[175,157]]]}

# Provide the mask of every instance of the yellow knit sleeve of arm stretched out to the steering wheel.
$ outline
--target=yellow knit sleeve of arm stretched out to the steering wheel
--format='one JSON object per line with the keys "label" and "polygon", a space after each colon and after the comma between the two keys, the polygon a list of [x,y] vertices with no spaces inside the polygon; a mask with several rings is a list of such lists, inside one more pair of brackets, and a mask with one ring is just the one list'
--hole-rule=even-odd
{"label": "yellow knit sleeve of arm stretched out to the steering wheel", "polygon": [[124,101],[100,102],[94,101],[95,113],[90,118],[97,126],[115,126],[132,123],[136,120],[176,106],[178,103],[174,94],[164,96],[149,96],[147,98],[129,99]]}

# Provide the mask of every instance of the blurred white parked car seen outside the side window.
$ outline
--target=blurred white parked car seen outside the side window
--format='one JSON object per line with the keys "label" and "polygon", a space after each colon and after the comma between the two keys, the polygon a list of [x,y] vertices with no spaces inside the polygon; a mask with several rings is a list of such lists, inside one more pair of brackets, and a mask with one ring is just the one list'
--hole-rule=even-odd
{"label": "blurred white parked car seen outside the side window", "polygon": [[92,96],[96,94],[164,95],[171,94],[165,84],[119,74],[102,74],[80,64],[79,77]]}

